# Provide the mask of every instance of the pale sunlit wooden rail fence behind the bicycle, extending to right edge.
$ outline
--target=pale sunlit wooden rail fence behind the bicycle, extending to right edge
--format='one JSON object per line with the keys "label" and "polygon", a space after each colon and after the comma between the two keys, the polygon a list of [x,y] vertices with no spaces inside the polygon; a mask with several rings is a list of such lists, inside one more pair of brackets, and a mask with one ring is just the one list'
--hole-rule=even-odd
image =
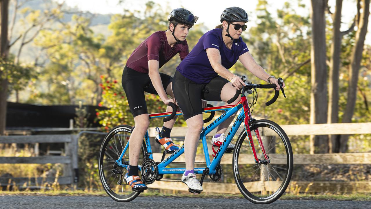
{"label": "pale sunlit wooden rail fence behind the bicycle, extending to right edge", "polygon": [[[314,124],[314,125],[282,125],[288,136],[293,135],[329,135],[329,134],[371,134],[371,123],[333,123],[333,124]],[[171,131],[172,137],[184,138],[187,128],[174,127]],[[214,134],[212,132],[211,134]],[[155,128],[149,129],[150,137],[156,135]],[[211,135],[210,134],[210,135]],[[151,143],[151,145],[153,145]],[[211,148],[209,148],[209,151]],[[271,154],[272,155],[272,154]],[[155,161],[161,159],[162,153],[154,153]],[[243,156],[239,156],[240,158]],[[210,155],[210,159],[213,157]],[[279,156],[276,156],[276,159]],[[197,155],[196,161],[204,161],[204,155]],[[177,158],[177,161],[184,161],[184,155]],[[246,163],[255,163],[246,158]],[[225,154],[221,164],[232,164],[232,154]],[[336,153],[336,154],[294,154],[294,166],[306,164],[371,164],[371,152],[364,153]],[[232,170],[227,171],[232,174]],[[224,171],[223,171],[224,173]],[[148,185],[155,189],[177,188],[177,190],[187,191],[188,188],[181,182],[161,182],[155,181]],[[203,184],[205,192],[223,192],[239,194],[235,183],[207,183]],[[371,192],[371,181],[291,181],[286,191],[308,192],[308,193],[354,193]]]}

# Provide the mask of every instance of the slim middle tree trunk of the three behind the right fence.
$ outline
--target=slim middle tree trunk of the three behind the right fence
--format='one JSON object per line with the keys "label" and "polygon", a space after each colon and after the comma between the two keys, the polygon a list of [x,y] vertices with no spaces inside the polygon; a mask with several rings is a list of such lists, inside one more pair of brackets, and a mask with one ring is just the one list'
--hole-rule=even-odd
{"label": "slim middle tree trunk of the three behind the right fence", "polygon": [[[341,7],[343,0],[336,0],[334,13],[334,28],[332,29],[331,61],[328,89],[328,117],[327,123],[338,123],[339,120],[339,68],[341,52]],[[339,152],[339,135],[329,135],[329,152]]]}

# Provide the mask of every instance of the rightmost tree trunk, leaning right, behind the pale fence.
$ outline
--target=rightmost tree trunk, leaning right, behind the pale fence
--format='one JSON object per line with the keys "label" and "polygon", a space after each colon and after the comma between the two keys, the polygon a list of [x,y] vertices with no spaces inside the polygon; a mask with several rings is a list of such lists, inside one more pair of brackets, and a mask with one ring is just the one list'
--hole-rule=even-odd
{"label": "rightmost tree trunk, leaning right, behind the pale fence", "polygon": [[[348,98],[347,98],[348,102],[342,119],[343,123],[352,122],[352,117],[354,113],[355,101],[357,99],[357,83],[359,76],[359,67],[361,65],[363,46],[365,42],[365,36],[367,33],[368,16],[370,14],[370,0],[362,0],[361,6],[363,12],[359,16],[358,30],[355,34],[355,45],[352,49],[348,80]],[[348,150],[348,138],[349,135],[341,135],[340,137],[339,151],[342,153],[345,153]]]}

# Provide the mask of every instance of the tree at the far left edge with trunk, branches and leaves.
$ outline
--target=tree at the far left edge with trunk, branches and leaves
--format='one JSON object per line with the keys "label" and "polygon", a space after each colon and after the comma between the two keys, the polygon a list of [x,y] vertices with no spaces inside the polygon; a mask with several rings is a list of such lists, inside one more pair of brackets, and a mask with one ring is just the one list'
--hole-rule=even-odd
{"label": "tree at the far left edge with trunk, branches and leaves", "polygon": [[[1,62],[3,68],[0,71],[0,135],[3,134],[5,129],[5,122],[6,122],[6,108],[7,108],[7,99],[9,96],[10,90],[16,91],[16,100],[18,102],[18,92],[22,90],[26,85],[27,81],[26,78],[32,78],[31,74],[35,75],[34,72],[31,72],[30,67],[23,66],[20,63],[20,55],[22,53],[22,49],[25,45],[29,44],[33,41],[33,39],[37,36],[39,31],[45,26],[46,23],[57,19],[59,16],[59,9],[62,4],[59,4],[55,9],[45,10],[41,12],[40,10],[29,10],[27,8],[23,8],[20,13],[22,13],[23,18],[17,20],[17,11],[23,6],[27,0],[19,1],[14,0],[14,9],[13,9],[13,17],[10,21],[10,29],[9,29],[9,0],[1,0],[1,41],[0,41],[0,54],[1,54]],[[25,30],[21,31],[17,34],[17,38],[13,41],[13,28],[16,22],[21,22],[22,25],[25,27]],[[36,28],[35,33],[31,33],[33,29]],[[30,35],[30,33],[32,35]],[[19,42],[19,45],[14,45]],[[12,42],[11,42],[12,41]],[[17,48],[17,54],[12,59],[9,58],[10,48],[14,47]],[[13,61],[14,60],[14,61]],[[11,64],[13,63],[13,64]],[[4,67],[12,66],[9,69],[5,69]],[[14,71],[10,71],[14,70]],[[20,79],[22,78],[22,79]],[[10,83],[11,81],[11,83]]]}

